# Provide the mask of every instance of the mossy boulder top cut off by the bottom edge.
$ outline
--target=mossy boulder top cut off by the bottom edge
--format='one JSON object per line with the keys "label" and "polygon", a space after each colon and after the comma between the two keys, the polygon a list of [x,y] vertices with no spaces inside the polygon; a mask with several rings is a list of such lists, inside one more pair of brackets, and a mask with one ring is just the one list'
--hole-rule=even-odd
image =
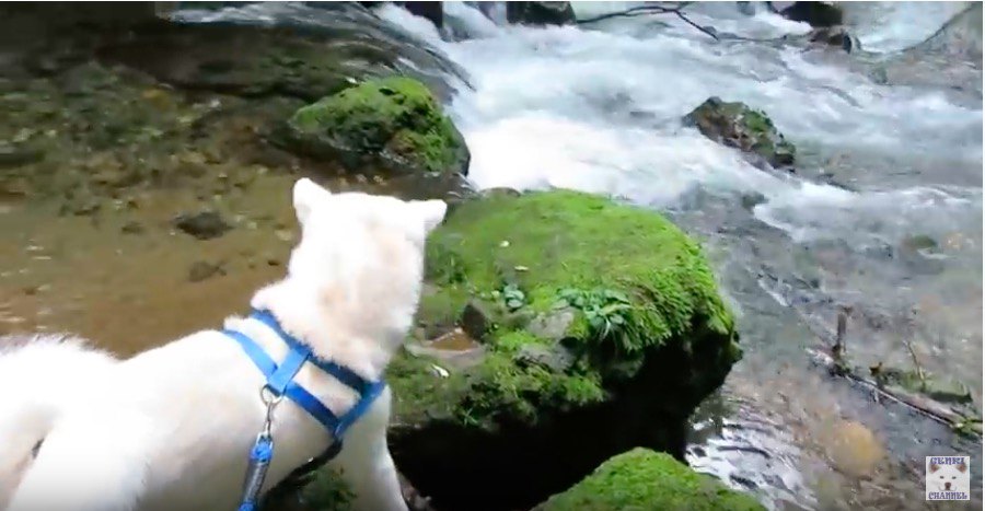
{"label": "mossy boulder top cut off by the bottom edge", "polygon": [[729,489],[663,453],[634,449],[603,463],[569,490],[534,511],[765,511],[749,495]]}

